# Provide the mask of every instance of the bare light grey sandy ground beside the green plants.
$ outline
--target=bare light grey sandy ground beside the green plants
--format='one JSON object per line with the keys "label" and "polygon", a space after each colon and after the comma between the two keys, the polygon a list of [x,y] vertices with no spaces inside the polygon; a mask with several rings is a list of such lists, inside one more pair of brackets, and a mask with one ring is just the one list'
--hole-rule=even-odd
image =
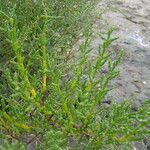
{"label": "bare light grey sandy ground beside the green plants", "polygon": [[[93,25],[95,37],[92,47],[99,45],[96,33],[117,27],[114,33],[120,39],[112,46],[118,52],[125,50],[119,65],[120,77],[112,82],[114,89],[108,99],[121,102],[134,99],[135,107],[150,100],[150,0],[102,0],[98,12],[105,13]],[[96,51],[95,54],[97,55]],[[134,150],[149,150],[149,142],[135,143]]]}

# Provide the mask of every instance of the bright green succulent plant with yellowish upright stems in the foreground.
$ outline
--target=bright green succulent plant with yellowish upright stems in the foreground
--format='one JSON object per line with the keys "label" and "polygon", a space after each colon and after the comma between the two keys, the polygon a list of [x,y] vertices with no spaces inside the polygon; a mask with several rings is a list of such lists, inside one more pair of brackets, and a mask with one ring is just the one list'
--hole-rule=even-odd
{"label": "bright green succulent plant with yellowish upright stems in the foreground", "polygon": [[[23,4],[28,8],[31,1],[27,2]],[[62,2],[66,7],[68,1]],[[56,48],[61,44],[55,47],[51,43],[56,39],[49,36],[49,27],[60,16],[49,14],[48,4],[51,3],[43,1],[41,13],[33,21],[31,14],[19,18],[21,11],[16,7],[8,13],[0,11],[1,33],[12,50],[10,61],[2,66],[0,79],[2,139],[27,146],[33,139],[26,142],[24,137],[32,134],[39,141],[37,149],[50,150],[115,149],[143,139],[149,134],[149,101],[137,112],[127,101],[104,104],[111,90],[110,81],[119,75],[117,66],[123,56],[123,51],[115,56],[108,51],[117,40],[112,36],[113,29],[100,35],[102,45],[92,61],[91,32],[86,26],[78,55],[69,59],[68,47],[58,52]],[[24,20],[29,21],[28,25],[24,25]],[[67,35],[62,34],[62,40]],[[22,146],[16,142],[13,145]]]}

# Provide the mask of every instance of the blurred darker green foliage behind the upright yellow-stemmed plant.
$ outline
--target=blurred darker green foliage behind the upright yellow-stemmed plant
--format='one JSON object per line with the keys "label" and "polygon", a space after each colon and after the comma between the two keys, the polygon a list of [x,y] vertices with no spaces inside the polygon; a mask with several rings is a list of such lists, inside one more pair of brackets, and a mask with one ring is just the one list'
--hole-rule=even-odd
{"label": "blurred darker green foliage behind the upright yellow-stemmed plant", "polygon": [[[19,36],[24,41],[24,53],[30,53],[31,47],[39,49],[38,35],[44,20],[48,22],[46,33],[49,49],[62,52],[72,47],[84,26],[91,24],[91,10],[97,0],[1,0],[0,11],[15,20]],[[4,18],[0,16],[0,25]],[[11,46],[0,31],[1,60],[11,59]],[[33,53],[33,52],[32,52]],[[32,54],[33,55],[33,54]]]}

